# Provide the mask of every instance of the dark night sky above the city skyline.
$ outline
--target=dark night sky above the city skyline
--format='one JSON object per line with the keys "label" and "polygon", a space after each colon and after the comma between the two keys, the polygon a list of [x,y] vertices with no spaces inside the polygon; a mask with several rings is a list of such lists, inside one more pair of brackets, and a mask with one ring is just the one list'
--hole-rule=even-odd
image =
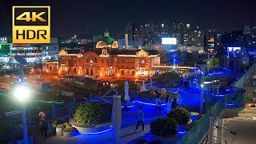
{"label": "dark night sky above the city skyline", "polygon": [[12,6],[51,6],[52,37],[110,34],[125,30],[128,22],[158,20],[220,32],[242,30],[245,22],[256,26],[254,0],[0,0],[0,35],[11,34]]}

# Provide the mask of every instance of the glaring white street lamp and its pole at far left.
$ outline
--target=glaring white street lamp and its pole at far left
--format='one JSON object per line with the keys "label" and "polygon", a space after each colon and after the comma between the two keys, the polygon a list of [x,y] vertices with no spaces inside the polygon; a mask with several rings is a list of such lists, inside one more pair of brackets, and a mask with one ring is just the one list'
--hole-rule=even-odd
{"label": "glaring white street lamp and its pole at far left", "polygon": [[23,85],[18,86],[14,90],[14,97],[21,102],[21,113],[22,113],[22,131],[23,131],[23,142],[24,144],[28,143],[27,138],[27,128],[26,128],[26,106],[25,101],[30,96],[30,90],[27,90]]}

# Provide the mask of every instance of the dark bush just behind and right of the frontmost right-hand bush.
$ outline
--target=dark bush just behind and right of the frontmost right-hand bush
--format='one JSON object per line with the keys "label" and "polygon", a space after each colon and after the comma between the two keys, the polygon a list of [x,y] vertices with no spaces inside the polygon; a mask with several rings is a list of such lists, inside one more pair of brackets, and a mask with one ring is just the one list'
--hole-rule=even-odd
{"label": "dark bush just behind and right of the frontmost right-hand bush", "polygon": [[171,110],[166,116],[174,118],[179,124],[186,124],[190,120],[190,112],[183,107]]}

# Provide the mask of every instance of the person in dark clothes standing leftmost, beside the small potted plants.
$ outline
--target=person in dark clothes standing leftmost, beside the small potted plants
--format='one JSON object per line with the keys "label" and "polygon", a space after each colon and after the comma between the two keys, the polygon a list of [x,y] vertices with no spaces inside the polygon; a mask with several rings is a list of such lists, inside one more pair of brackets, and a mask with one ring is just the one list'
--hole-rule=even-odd
{"label": "person in dark clothes standing leftmost, beside the small potted plants", "polygon": [[47,130],[48,130],[48,122],[46,118],[46,114],[44,112],[39,113],[39,128],[41,132],[42,138],[46,138]]}

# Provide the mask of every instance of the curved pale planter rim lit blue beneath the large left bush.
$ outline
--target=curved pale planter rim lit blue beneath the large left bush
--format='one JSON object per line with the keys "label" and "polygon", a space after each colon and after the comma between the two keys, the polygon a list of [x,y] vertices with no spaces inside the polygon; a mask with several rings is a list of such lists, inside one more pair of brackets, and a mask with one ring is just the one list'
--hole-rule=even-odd
{"label": "curved pale planter rim lit blue beneath the large left bush", "polygon": [[74,118],[70,118],[70,124],[74,126],[80,134],[99,134],[112,129],[112,122],[98,124],[95,126],[86,126],[81,122],[75,122]]}

